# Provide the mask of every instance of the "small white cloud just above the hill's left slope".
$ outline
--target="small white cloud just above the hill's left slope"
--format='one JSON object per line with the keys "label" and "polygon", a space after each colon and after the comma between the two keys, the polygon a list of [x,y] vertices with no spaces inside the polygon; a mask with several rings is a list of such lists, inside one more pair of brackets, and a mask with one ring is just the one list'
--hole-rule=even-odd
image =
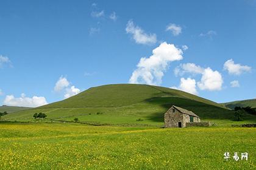
{"label": "small white cloud just above the hill's left slope", "polygon": [[69,81],[63,76],[61,76],[57,83],[55,83],[54,91],[65,92],[64,98],[69,98],[80,93],[80,89],[75,86],[71,86],[71,83],[69,83]]}

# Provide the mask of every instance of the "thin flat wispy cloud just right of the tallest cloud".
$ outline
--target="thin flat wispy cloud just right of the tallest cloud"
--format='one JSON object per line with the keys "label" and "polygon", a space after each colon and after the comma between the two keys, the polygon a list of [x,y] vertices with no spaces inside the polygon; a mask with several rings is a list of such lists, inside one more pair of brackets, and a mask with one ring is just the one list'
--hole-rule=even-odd
{"label": "thin flat wispy cloud just right of the tallest cloud", "polygon": [[204,72],[204,68],[201,66],[196,66],[194,63],[186,63],[180,64],[180,66],[174,69],[175,75],[183,75],[184,73],[196,73],[202,74]]}

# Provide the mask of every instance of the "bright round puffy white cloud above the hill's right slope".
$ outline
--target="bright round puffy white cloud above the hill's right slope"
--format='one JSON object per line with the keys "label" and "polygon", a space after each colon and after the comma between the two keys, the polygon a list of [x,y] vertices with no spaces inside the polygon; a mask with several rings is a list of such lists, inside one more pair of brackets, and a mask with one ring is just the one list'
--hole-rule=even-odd
{"label": "bright round puffy white cloud above the hill's right slope", "polygon": [[208,67],[204,69],[202,73],[201,81],[197,82],[197,86],[201,90],[221,90],[222,87],[222,76],[218,71],[213,71]]}

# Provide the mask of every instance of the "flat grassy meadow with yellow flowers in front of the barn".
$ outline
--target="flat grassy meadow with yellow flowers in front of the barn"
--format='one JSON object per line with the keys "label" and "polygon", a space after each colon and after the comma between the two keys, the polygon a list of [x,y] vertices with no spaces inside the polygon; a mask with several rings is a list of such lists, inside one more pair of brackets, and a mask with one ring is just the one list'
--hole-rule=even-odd
{"label": "flat grassy meadow with yellow flowers in front of the barn", "polygon": [[[12,123],[0,129],[0,169],[256,168],[255,128]],[[235,161],[234,152],[249,159]]]}

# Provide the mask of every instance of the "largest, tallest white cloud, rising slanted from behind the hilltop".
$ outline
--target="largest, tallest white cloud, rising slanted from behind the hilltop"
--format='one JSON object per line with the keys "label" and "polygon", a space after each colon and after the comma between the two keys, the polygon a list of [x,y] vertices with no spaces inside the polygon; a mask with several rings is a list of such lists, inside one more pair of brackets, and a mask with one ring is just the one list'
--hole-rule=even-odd
{"label": "largest, tallest white cloud, rising slanted from behind the hilltop", "polygon": [[149,58],[140,59],[129,83],[161,84],[169,63],[183,58],[182,50],[177,49],[174,44],[167,44],[166,42],[160,44],[152,53]]}

